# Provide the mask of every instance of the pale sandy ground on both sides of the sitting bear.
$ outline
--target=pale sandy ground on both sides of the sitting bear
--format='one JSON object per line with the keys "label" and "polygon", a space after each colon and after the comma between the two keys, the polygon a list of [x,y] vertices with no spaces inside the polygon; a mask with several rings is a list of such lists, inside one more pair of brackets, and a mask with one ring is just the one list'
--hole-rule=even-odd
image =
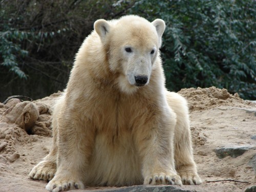
{"label": "pale sandy ground on both sides of the sitting bear", "polygon": [[[203,180],[199,186],[184,185],[181,188],[245,191],[256,185],[256,170],[249,164],[256,155],[256,140],[252,139],[256,136],[256,103],[214,87],[183,89],[179,93],[189,103],[194,157]],[[4,118],[8,106],[0,103],[0,191],[47,191],[46,181],[32,180],[28,174],[49,153],[51,106],[58,95],[34,101],[40,115],[29,134]],[[251,149],[236,158],[219,159],[214,150],[222,146],[248,146]],[[87,188],[94,191],[110,189],[114,188]]]}

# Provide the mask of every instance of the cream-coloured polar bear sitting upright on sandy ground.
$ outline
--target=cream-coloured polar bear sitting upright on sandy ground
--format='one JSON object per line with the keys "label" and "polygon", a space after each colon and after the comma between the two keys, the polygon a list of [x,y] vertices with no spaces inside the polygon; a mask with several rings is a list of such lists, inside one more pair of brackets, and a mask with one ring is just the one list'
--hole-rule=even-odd
{"label": "cream-coloured polar bear sitting upright on sandy ground", "polygon": [[165,88],[165,23],[99,19],[53,112],[53,145],[30,172],[46,189],[198,185],[186,100]]}

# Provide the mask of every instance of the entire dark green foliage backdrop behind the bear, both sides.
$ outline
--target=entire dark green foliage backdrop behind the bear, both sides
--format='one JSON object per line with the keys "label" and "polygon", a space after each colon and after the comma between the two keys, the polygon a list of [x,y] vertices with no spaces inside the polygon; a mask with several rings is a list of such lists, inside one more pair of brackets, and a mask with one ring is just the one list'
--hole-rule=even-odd
{"label": "entire dark green foliage backdrop behind the bear, both sides", "polygon": [[0,6],[0,82],[9,85],[0,98],[62,90],[95,20],[137,14],[165,20],[161,52],[169,90],[216,86],[256,99],[255,1],[4,0]]}

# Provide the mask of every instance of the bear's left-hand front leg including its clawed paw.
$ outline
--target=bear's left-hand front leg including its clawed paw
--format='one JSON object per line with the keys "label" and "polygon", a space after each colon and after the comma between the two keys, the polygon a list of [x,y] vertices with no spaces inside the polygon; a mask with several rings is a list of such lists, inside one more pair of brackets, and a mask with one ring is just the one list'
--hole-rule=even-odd
{"label": "bear's left-hand front leg including its clawed paw", "polygon": [[53,192],[84,188],[83,178],[94,146],[92,122],[86,117],[67,116],[59,117],[57,171],[46,186]]}

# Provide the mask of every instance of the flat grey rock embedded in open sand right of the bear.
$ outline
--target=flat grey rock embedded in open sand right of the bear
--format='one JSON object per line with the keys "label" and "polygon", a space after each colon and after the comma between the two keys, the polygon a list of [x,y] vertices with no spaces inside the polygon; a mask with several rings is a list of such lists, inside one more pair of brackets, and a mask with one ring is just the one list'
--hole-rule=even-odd
{"label": "flat grey rock embedded in open sand right of the bear", "polygon": [[231,157],[238,157],[243,155],[246,151],[248,151],[251,146],[232,146],[232,147],[218,147],[214,150],[216,155],[223,159],[224,157],[231,156]]}

